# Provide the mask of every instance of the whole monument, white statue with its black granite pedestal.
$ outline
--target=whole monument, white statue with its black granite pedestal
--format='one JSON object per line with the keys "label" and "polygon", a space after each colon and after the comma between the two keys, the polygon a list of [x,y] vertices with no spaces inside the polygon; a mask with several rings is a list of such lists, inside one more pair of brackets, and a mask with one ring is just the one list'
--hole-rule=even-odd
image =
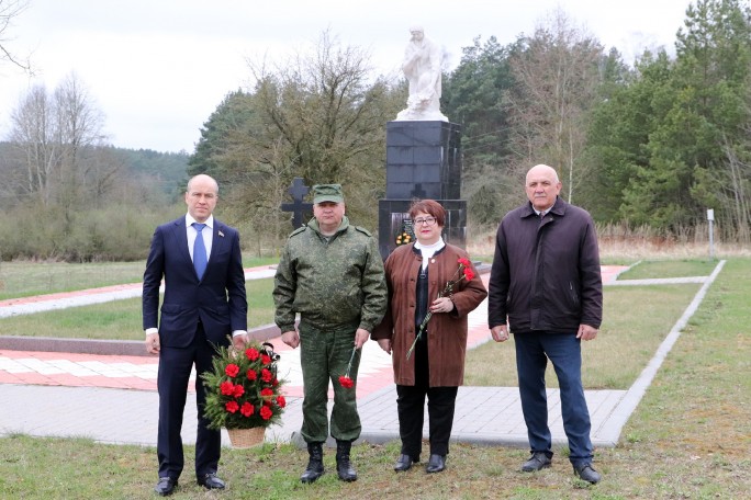
{"label": "whole monument, white statue with its black granite pedestal", "polygon": [[386,193],[379,200],[379,250],[385,259],[414,241],[407,212],[415,198],[446,209],[444,240],[464,248],[467,202],[461,194],[461,126],[440,112],[441,49],[422,26],[412,35],[402,70],[410,82],[407,106],[386,124]]}

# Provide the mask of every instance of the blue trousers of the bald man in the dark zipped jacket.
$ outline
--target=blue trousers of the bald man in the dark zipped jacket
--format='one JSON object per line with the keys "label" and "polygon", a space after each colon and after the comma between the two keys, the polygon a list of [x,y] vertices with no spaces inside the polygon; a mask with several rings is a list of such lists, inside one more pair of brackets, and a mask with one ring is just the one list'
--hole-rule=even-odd
{"label": "blue trousers of the bald man in the dark zipped jacket", "polygon": [[531,452],[545,452],[552,456],[548,398],[545,390],[545,370],[550,360],[560,386],[563,430],[571,451],[569,459],[574,466],[591,463],[592,425],[582,386],[581,341],[575,334],[541,331],[516,333],[514,344],[522,411],[527,423]]}

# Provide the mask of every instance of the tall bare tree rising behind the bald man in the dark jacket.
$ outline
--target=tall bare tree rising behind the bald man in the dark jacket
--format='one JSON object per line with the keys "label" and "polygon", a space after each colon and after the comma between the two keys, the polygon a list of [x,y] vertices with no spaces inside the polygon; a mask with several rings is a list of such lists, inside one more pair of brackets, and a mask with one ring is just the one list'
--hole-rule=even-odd
{"label": "tall bare tree rising behind the bald man in the dark jacket", "polygon": [[518,174],[535,163],[549,163],[565,182],[569,202],[585,175],[576,169],[604,58],[602,45],[571,26],[560,9],[511,57],[516,86],[507,94],[506,110]]}

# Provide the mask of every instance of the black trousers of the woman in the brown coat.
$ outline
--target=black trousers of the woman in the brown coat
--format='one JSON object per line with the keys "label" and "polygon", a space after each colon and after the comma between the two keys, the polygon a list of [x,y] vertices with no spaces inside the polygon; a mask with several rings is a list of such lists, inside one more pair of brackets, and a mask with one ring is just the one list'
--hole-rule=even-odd
{"label": "black trousers of the woman in the brown coat", "polygon": [[430,454],[446,456],[453,425],[453,409],[458,387],[430,387],[427,341],[417,342],[415,356],[415,385],[396,386],[396,412],[402,454],[417,457],[423,445],[425,397],[428,399]]}

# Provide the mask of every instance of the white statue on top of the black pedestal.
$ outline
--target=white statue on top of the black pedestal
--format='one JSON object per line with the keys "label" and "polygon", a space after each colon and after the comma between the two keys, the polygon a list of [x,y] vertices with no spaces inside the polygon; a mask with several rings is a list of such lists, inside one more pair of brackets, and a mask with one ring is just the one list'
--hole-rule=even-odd
{"label": "white statue on top of the black pedestal", "polygon": [[402,63],[402,70],[410,82],[410,98],[406,110],[401,111],[396,120],[448,122],[440,113],[440,46],[425,37],[423,26],[412,26],[410,33],[412,37]]}

